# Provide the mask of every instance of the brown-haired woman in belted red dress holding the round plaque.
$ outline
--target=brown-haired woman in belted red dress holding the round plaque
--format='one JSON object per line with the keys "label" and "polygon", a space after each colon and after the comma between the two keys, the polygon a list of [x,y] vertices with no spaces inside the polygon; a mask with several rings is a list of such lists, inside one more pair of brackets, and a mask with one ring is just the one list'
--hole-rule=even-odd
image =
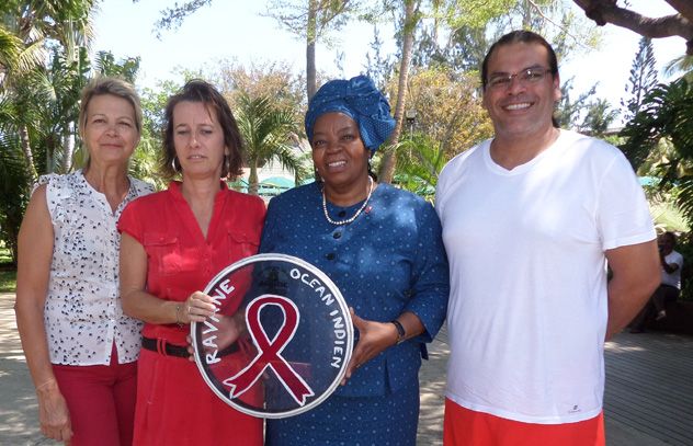
{"label": "brown-haired woman in belted red dress holding the round plaque", "polygon": [[133,202],[118,221],[123,309],[145,321],[134,443],[261,445],[262,420],[213,393],[188,361],[185,335],[215,309],[205,285],[255,253],[264,203],[219,180],[240,173],[241,139],[218,91],[188,82],[166,121],[163,170],[182,181]]}

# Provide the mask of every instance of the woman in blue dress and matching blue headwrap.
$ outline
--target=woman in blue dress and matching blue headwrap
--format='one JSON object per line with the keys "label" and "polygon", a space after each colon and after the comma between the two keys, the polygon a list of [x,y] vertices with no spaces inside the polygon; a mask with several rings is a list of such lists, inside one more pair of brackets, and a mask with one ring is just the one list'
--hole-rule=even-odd
{"label": "woman in blue dress and matching blue headwrap", "polygon": [[266,445],[416,444],[418,373],[445,318],[448,271],[433,207],[370,172],[395,127],[389,110],[364,76],[326,83],[305,123],[320,180],[270,202],[260,251],[330,276],[356,343],[343,386],[308,412],[268,420]]}

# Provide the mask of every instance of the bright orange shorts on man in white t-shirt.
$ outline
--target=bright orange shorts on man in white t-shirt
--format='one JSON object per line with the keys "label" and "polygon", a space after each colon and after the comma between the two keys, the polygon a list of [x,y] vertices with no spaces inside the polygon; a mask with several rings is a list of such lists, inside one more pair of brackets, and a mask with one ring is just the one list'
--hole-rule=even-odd
{"label": "bright orange shorts on man in white t-shirt", "polygon": [[604,446],[604,413],[577,423],[535,424],[465,409],[445,399],[445,446]]}

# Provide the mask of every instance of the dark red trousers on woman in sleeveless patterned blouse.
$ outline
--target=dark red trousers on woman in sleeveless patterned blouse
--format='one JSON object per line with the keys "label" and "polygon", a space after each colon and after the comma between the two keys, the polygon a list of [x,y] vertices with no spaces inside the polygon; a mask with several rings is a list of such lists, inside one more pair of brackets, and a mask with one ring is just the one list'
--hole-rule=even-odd
{"label": "dark red trousers on woman in sleeveless patterned blouse", "polygon": [[137,363],[118,364],[115,345],[107,366],[53,365],[70,411],[72,446],[133,443]]}

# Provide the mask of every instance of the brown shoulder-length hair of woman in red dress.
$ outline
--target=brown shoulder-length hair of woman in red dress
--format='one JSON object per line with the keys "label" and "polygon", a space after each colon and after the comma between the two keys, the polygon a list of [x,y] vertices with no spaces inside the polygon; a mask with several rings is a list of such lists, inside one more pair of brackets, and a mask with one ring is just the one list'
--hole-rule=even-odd
{"label": "brown shoulder-length hair of woman in red dress", "polygon": [[166,104],[161,173],[167,178],[173,178],[181,171],[173,145],[173,108],[181,102],[202,102],[207,108],[216,112],[224,133],[224,144],[229,150],[229,156],[224,157],[221,178],[229,176],[232,180],[240,175],[243,167],[243,142],[234,113],[221,93],[211,83],[200,79],[188,81]]}

